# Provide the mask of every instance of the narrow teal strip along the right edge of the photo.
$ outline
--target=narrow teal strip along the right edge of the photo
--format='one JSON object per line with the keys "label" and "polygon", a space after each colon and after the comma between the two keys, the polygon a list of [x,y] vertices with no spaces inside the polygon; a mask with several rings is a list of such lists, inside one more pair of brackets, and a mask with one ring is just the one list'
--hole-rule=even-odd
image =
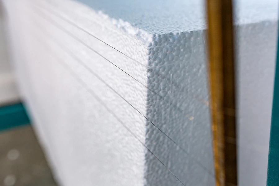
{"label": "narrow teal strip along the right edge of the photo", "polygon": [[[278,32],[279,34],[279,32]],[[279,36],[279,35],[278,35]],[[279,40],[273,92],[271,129],[268,153],[267,186],[279,185]]]}

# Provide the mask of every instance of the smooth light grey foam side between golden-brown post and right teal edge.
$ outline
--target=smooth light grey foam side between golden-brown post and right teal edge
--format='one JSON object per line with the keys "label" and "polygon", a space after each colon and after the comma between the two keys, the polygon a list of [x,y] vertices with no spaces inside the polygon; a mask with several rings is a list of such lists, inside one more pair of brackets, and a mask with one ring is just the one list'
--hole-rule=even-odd
{"label": "smooth light grey foam side between golden-brown post and right teal edge", "polygon": [[277,27],[262,21],[236,29],[240,185],[266,184]]}

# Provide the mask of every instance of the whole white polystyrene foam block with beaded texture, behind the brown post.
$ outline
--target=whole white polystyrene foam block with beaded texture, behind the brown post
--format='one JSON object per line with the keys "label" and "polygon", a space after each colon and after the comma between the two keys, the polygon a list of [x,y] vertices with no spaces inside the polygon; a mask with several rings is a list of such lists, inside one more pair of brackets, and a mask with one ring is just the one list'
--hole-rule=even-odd
{"label": "whole white polystyrene foam block with beaded texture, behind the brown post", "polygon": [[[203,1],[4,2],[18,84],[61,185],[215,184]],[[236,9],[239,183],[264,185],[277,4]]]}

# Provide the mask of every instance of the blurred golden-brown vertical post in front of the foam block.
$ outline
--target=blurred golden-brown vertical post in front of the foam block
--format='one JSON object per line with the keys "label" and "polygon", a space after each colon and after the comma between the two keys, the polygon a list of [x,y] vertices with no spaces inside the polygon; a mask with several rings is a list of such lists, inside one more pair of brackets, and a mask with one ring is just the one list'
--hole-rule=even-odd
{"label": "blurred golden-brown vertical post in front of the foam block", "polygon": [[232,0],[207,0],[207,13],[216,185],[237,185]]}

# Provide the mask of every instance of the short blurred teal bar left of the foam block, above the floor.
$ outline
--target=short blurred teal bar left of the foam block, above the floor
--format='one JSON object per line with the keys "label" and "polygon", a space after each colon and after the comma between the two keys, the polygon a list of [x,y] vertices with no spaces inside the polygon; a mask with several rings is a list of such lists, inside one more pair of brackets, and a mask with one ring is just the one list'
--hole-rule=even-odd
{"label": "short blurred teal bar left of the foam block, above the floor", "polygon": [[30,123],[23,104],[0,107],[0,131]]}

